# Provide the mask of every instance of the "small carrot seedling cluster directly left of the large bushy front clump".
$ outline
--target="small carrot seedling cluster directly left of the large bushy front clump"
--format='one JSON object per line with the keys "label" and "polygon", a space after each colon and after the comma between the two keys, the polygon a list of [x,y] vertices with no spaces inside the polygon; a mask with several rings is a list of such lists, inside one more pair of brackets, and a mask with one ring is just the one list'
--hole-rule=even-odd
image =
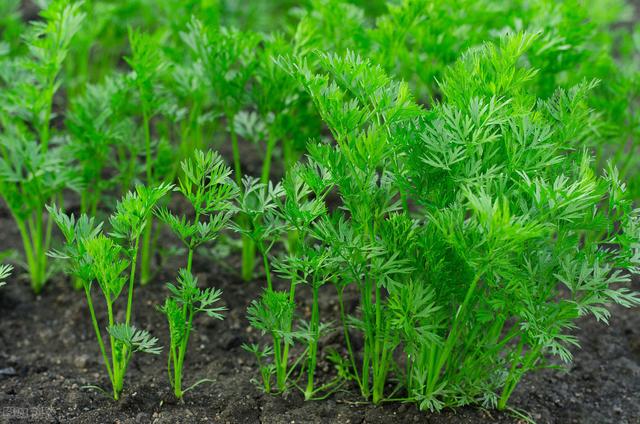
{"label": "small carrot seedling cluster directly left of the large bushy front clump", "polygon": [[[311,177],[309,182],[306,177]],[[298,380],[306,372],[307,383],[301,388],[306,399],[312,399],[336,387],[337,378],[316,386],[315,370],[318,363],[318,343],[320,337],[328,333],[330,326],[322,323],[319,309],[320,288],[335,276],[335,261],[326,250],[319,246],[309,246],[305,242],[315,228],[316,220],[325,213],[323,202],[330,186],[322,177],[309,172],[304,167],[294,167],[280,186],[267,186],[257,180],[247,180],[247,193],[251,197],[240,197],[240,211],[248,216],[250,231],[263,257],[267,287],[259,300],[252,302],[247,313],[251,325],[271,336],[271,343],[245,345],[245,350],[253,353],[259,362],[262,387],[270,392],[275,389],[284,392],[298,386]],[[242,231],[242,228],[238,228]],[[295,232],[295,245],[289,245],[287,253],[270,259],[270,251],[276,242],[284,240],[284,235]],[[303,242],[305,241],[305,242]],[[272,283],[273,272],[289,284],[288,291],[277,291]],[[311,290],[311,317],[309,322],[301,321],[294,327],[296,318],[296,288],[308,285]],[[290,363],[292,349],[296,342],[305,346],[296,352]],[[266,361],[271,360],[272,363]],[[297,376],[294,378],[294,373]]]}

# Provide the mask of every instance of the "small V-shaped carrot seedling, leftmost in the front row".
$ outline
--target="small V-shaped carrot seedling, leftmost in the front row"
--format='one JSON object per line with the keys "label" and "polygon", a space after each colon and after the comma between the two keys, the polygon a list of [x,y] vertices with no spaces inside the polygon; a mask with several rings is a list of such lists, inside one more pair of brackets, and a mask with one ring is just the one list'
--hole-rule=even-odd
{"label": "small V-shaped carrot seedling, leftmost in the front row", "polygon": [[[133,292],[142,231],[156,203],[170,190],[170,185],[153,188],[138,186],[135,192],[129,192],[118,203],[109,219],[112,230],[108,235],[104,233],[102,223],[94,218],[81,215],[76,220],[73,215],[66,215],[55,206],[48,208],[66,241],[61,250],[50,254],[65,260],[67,273],[82,282],[93,330],[111,382],[111,395],[115,400],[122,394],[124,378],[133,354],[143,352],[157,355],[161,350],[155,337],[132,325]],[[105,344],[94,308],[91,294],[94,282],[105,301],[108,344]],[[125,287],[125,319],[124,322],[116,322],[116,301]]]}

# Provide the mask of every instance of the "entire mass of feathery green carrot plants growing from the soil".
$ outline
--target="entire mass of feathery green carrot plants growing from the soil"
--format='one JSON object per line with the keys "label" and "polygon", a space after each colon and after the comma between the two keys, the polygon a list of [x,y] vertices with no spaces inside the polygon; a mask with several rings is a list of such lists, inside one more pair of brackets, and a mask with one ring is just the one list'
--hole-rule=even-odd
{"label": "entire mass of feathery green carrot plants growing from the soil", "polygon": [[[609,33],[624,4],[440,3],[389,5],[372,23],[313,1],[286,34],[224,27],[202,5],[157,22],[102,2],[53,1],[27,27],[7,14],[0,194],[33,290],[55,258],[84,292],[114,399],[134,353],[162,353],[133,325],[133,298],[161,265],[163,226],[185,255],[159,305],[178,398],[207,381],[183,381],[194,316],[224,316],[194,255],[234,233],[239,274],[264,275],[247,310],[263,341],[244,348],[267,393],[504,409],[524,374],[571,360],[579,317],[640,304],[626,287],[640,273],[640,38]],[[109,27],[121,12],[158,25],[128,27],[126,65]],[[211,149],[227,145],[232,166]],[[178,196],[188,210],[169,208]],[[329,292],[338,319],[321,316]],[[331,333],[342,348],[321,352]],[[320,361],[334,379],[317,381]]]}

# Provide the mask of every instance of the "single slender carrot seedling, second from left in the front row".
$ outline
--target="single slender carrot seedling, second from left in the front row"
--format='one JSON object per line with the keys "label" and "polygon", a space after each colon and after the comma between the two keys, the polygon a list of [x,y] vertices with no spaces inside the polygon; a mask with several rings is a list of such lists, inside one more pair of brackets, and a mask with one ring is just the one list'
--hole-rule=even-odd
{"label": "single slender carrot seedling, second from left in the front row", "polygon": [[231,180],[231,170],[222,158],[212,151],[196,150],[192,159],[182,162],[183,177],[178,191],[193,207],[193,221],[178,217],[166,208],[157,211],[158,218],[180,238],[188,249],[186,268],[179,271],[177,284],[169,284],[171,297],[160,308],[167,316],[171,335],[171,348],[167,371],[169,382],[176,398],[198,384],[182,388],[182,370],[187,353],[193,318],[204,313],[215,319],[222,319],[224,307],[213,306],[220,300],[222,292],[217,289],[199,289],[197,279],[192,274],[193,254],[197,247],[213,241],[225,228],[233,216],[233,200],[237,187]]}

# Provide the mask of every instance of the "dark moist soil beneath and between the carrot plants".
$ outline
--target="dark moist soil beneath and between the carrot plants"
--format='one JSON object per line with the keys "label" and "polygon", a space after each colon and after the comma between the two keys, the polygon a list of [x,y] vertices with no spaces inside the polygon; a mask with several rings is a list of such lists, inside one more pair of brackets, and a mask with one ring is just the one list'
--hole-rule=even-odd
{"label": "dark moist soil beneath and between the carrot plants", "polygon": [[[0,245],[19,248],[15,226],[0,211]],[[161,237],[172,245],[171,237]],[[355,388],[326,400],[305,402],[292,391],[285,396],[262,393],[252,383],[257,377],[254,358],[241,345],[260,340],[245,317],[249,302],[264,287],[264,279],[245,283],[234,274],[239,258],[215,261],[199,252],[194,262],[201,286],[224,291],[228,308],[224,321],[201,317],[190,340],[185,363],[185,386],[202,384],[177,402],[169,390],[166,356],[138,354],[125,381],[123,398],[114,402],[97,390],[109,382],[91,327],[84,295],[73,291],[62,277],[53,278],[40,296],[34,296],[24,278],[12,278],[0,290],[0,422],[52,423],[519,423],[513,412],[478,408],[421,412],[411,404],[373,406],[362,403]],[[138,287],[134,323],[168,345],[167,325],[156,306],[167,293],[163,283],[175,277],[182,256],[167,260],[155,280]],[[222,264],[222,265],[219,265]],[[56,275],[62,275],[57,272]],[[640,282],[634,283],[640,289]],[[94,289],[94,292],[97,292]],[[356,303],[356,294],[347,305]],[[123,298],[125,296],[122,296]],[[321,313],[337,318],[335,297],[327,287]],[[101,309],[102,299],[94,299]],[[121,308],[122,309],[122,308]],[[301,304],[303,314],[308,305]],[[640,423],[640,314],[613,308],[609,326],[592,318],[579,322],[575,334],[582,349],[574,349],[569,369],[546,369],[527,375],[511,405],[538,423]],[[104,313],[99,314],[104,319]],[[102,321],[104,322],[104,321]],[[323,340],[323,351],[338,347],[338,336]],[[332,367],[320,365],[320,379]]]}

